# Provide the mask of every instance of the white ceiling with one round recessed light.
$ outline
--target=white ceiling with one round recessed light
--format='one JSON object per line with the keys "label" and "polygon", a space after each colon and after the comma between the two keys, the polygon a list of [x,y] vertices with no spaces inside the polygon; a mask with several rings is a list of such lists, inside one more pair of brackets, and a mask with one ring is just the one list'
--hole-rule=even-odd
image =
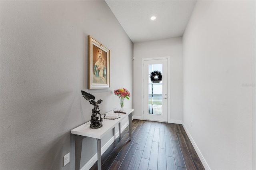
{"label": "white ceiling with one round recessed light", "polygon": [[105,1],[134,43],[182,36],[196,4],[196,0]]}

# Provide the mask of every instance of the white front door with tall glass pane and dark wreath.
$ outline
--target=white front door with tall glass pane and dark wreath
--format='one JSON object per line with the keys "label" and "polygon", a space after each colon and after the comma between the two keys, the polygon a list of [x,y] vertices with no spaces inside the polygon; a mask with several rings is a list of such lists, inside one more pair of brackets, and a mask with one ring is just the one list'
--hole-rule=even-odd
{"label": "white front door with tall glass pane and dark wreath", "polygon": [[143,106],[144,120],[168,122],[168,59],[144,60]]}

